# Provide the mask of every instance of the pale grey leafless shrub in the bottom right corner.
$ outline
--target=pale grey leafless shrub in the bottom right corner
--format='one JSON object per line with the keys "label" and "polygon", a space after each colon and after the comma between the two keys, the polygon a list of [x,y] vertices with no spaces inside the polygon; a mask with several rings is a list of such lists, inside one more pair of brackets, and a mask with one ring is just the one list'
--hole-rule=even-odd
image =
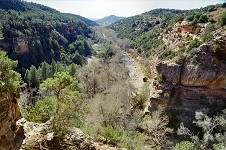
{"label": "pale grey leafless shrub in the bottom right corner", "polygon": [[[226,130],[226,111],[223,110],[223,114],[209,117],[203,112],[195,113],[196,124],[202,130],[202,133],[195,135],[188,128],[186,128],[183,123],[181,123],[178,129],[178,135],[185,135],[190,137],[191,141],[194,143],[197,149],[208,149],[212,147],[214,143],[224,142],[225,130]],[[215,147],[220,147],[217,144]]]}

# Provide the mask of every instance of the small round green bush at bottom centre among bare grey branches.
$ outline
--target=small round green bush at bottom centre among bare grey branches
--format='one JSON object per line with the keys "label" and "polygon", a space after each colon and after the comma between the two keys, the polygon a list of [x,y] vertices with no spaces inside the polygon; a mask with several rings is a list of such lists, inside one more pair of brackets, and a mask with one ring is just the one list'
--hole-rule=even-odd
{"label": "small round green bush at bottom centre among bare grey branches", "polygon": [[107,144],[118,145],[121,140],[121,132],[107,126],[102,131],[103,137],[107,140]]}

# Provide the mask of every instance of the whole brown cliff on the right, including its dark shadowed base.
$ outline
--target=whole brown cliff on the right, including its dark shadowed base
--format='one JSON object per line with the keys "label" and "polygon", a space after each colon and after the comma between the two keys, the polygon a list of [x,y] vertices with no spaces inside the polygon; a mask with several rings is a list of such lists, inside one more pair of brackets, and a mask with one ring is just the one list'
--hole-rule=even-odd
{"label": "whole brown cliff on the right, including its dark shadowed base", "polygon": [[214,113],[226,107],[225,62],[213,55],[210,45],[201,45],[194,55],[195,62],[187,56],[182,64],[165,61],[156,66],[163,82],[155,84],[159,95],[150,99],[149,110],[160,105],[186,122],[197,110]]}

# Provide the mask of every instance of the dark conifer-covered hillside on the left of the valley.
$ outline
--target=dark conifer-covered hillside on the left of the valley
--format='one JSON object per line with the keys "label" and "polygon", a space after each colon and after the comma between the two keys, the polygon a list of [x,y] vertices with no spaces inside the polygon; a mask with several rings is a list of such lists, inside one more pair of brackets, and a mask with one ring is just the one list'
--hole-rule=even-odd
{"label": "dark conifer-covered hillside on the left of the valley", "polygon": [[80,19],[21,0],[0,4],[0,49],[19,61],[20,71],[52,60],[83,64],[92,53],[93,31]]}

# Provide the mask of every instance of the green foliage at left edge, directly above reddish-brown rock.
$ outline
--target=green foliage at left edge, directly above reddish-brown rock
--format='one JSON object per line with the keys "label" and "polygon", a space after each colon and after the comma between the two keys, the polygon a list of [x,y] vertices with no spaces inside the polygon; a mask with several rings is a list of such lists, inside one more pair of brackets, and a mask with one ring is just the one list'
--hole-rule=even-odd
{"label": "green foliage at left edge, directly above reddish-brown rock", "polygon": [[6,56],[6,52],[0,51],[0,97],[19,93],[21,77],[13,70],[17,61],[12,61]]}

